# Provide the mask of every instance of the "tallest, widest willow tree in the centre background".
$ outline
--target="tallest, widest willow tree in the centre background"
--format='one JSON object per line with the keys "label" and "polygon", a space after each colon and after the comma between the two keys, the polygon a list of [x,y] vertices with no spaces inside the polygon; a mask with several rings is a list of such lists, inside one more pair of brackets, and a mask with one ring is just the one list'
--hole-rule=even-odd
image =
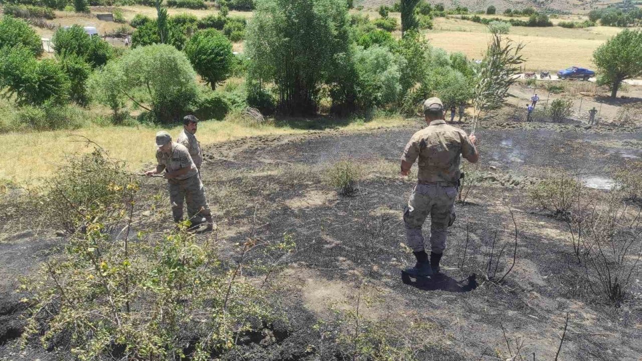
{"label": "tallest, widest willow tree in the centre background", "polygon": [[248,80],[273,82],[282,114],[315,114],[320,87],[349,44],[344,0],[257,1],[245,42]]}

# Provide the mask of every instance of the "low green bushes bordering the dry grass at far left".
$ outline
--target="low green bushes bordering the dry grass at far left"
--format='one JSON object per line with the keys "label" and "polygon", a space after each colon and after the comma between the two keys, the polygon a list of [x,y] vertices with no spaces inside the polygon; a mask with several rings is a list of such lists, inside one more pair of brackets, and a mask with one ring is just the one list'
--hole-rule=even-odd
{"label": "low green bushes bordering the dry grass at far left", "polygon": [[85,125],[85,113],[70,105],[46,102],[40,106],[22,105],[13,113],[13,130],[44,131],[76,129]]}

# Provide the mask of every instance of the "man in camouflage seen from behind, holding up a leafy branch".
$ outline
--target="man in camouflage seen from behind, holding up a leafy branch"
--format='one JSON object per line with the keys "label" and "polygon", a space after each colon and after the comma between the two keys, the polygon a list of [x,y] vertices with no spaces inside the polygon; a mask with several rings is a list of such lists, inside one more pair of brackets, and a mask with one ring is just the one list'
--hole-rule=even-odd
{"label": "man in camouflage seen from behind, holding up a leafy branch", "polygon": [[[475,136],[447,125],[444,105],[439,98],[424,102],[424,118],[428,127],[416,132],[401,158],[401,175],[406,176],[419,158],[419,180],[404,211],[408,246],[417,265],[406,272],[413,276],[430,276],[439,272],[439,262],[446,249],[447,227],[455,222],[455,198],[460,179],[460,155],[471,163],[479,160],[474,146]],[[430,261],[424,250],[422,225],[430,215]]]}

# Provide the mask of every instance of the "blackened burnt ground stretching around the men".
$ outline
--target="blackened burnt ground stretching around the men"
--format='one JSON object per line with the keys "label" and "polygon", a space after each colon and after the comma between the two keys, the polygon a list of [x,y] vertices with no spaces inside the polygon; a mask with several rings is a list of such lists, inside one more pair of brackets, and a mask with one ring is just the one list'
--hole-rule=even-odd
{"label": "blackened burnt ground stretching around the men", "polygon": [[[368,133],[256,137],[205,149],[203,179],[224,240],[221,252],[234,260],[234,243],[250,232],[273,240],[288,234],[297,243],[296,252],[284,260],[287,268],[277,276],[283,290],[279,303],[290,319],[288,332],[275,340],[261,335],[248,341],[241,346],[244,359],[320,359],[310,351],[320,342],[311,326],[330,317],[329,306],[354,308],[355,295],[370,290],[379,302],[364,308],[364,317],[431,325],[425,335],[430,345],[426,360],[507,358],[505,337],[512,348],[523,340],[523,355],[553,360],[566,313],[569,324],[560,359],[639,360],[639,282],[620,308],[597,298],[581,281],[583,269],[573,259],[566,223],[539,212],[528,201],[526,188],[547,172],[579,175],[600,188],[612,170],[642,157],[635,146],[642,136],[584,128],[480,130],[482,161],[475,170],[482,176],[467,202],[457,206],[442,260],[444,274],[404,285],[399,270],[412,263],[412,254],[404,246],[402,211],[412,179],[400,179],[397,167],[405,142],[419,127],[418,122],[417,128]],[[342,158],[365,170],[352,197],[338,196],[325,182],[328,166]],[[144,186],[140,227],[169,229],[163,181],[147,179]],[[595,197],[602,193],[594,190]],[[510,269],[515,236],[510,211],[517,224],[516,262],[497,285],[484,274],[489,273],[495,238],[505,252],[490,262],[490,272],[501,277]],[[13,348],[22,306],[11,291],[15,276],[32,271],[39,258],[63,243],[51,231],[14,232],[0,242],[0,359],[56,357],[35,349],[21,355]]]}

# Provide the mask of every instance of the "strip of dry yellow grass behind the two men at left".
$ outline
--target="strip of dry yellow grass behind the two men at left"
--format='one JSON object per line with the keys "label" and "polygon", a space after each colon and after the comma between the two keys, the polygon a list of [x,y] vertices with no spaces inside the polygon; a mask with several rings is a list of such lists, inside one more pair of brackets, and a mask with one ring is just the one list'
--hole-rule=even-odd
{"label": "strip of dry yellow grass behind the two men at left", "polygon": [[[369,122],[356,121],[340,128],[361,130],[377,127],[395,127],[407,124],[401,117],[376,118]],[[56,172],[64,154],[86,152],[91,146],[77,142],[84,136],[98,143],[117,159],[128,163],[132,171],[152,166],[154,161],[154,136],[160,128],[148,127],[88,127],[78,130],[56,130],[0,134],[0,179],[24,184],[31,179],[49,177]],[[177,136],[181,127],[167,129]],[[248,136],[302,134],[309,132],[293,127],[246,127],[232,121],[205,121],[198,128],[198,139],[202,145],[218,143]]]}

